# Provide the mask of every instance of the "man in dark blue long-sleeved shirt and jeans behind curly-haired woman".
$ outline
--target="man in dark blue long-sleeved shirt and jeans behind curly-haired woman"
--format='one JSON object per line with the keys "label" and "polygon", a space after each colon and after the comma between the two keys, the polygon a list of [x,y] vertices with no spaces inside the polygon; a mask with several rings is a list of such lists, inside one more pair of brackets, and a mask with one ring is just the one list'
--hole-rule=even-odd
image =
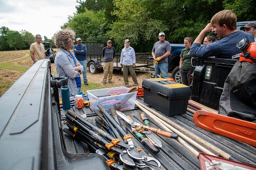
{"label": "man in dark blue long-sleeved shirt and jeans behind curly-haired woman", "polygon": [[84,78],[84,83],[85,85],[88,85],[88,80],[87,80],[87,59],[86,59],[86,54],[87,54],[87,48],[86,45],[82,44],[81,38],[76,39],[76,44],[73,47],[75,57],[76,59],[83,65],[84,71],[83,71],[83,78]]}

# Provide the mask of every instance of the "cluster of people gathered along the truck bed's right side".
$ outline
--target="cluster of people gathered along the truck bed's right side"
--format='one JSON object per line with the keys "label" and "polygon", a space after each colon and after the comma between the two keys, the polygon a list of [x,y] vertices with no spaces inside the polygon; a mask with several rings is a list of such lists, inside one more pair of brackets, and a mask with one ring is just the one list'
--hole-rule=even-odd
{"label": "cluster of people gathered along the truck bed's right side", "polygon": [[[244,38],[249,42],[256,40],[256,23],[248,23],[241,27],[244,31],[238,31],[236,21],[237,17],[234,12],[222,10],[213,16],[211,23],[199,33],[194,43],[189,37],[184,39],[185,48],[180,54],[180,73],[183,84],[189,86],[192,57],[239,59],[241,49],[237,48],[236,44]],[[215,36],[204,37],[205,33],[211,31],[217,35],[219,41],[216,41]],[[202,40],[204,46],[201,46]]]}

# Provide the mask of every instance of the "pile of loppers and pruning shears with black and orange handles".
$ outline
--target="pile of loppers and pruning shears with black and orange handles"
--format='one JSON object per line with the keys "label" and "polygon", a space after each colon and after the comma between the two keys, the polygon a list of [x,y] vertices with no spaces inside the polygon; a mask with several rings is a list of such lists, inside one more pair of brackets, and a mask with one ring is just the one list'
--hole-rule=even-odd
{"label": "pile of loppers and pruning shears with black and orange handles", "polygon": [[[91,152],[96,152],[106,160],[109,167],[113,169],[123,169],[125,167],[137,167],[139,169],[154,169],[160,167],[160,162],[149,157],[140,148],[136,147],[132,135],[127,131],[125,122],[129,123],[141,142],[146,145],[152,152],[159,152],[159,148],[154,145],[148,138],[143,137],[139,131],[156,132],[163,134],[169,138],[178,138],[177,134],[169,134],[161,129],[155,129],[146,125],[140,125],[132,122],[121,112],[117,112],[114,107],[110,108],[110,115],[106,108],[98,104],[99,109],[95,113],[99,116],[95,118],[95,125],[91,120],[86,120],[82,115],[76,114],[72,110],[66,113],[66,121],[69,129],[63,129],[64,132],[71,135],[71,137],[78,139],[88,145]],[[120,117],[119,117],[120,116]],[[124,118],[124,121],[123,119]],[[145,118],[145,121],[147,118]],[[145,130],[143,130],[145,129]],[[149,135],[152,133],[149,132]],[[151,137],[154,143],[161,146],[161,142]]]}

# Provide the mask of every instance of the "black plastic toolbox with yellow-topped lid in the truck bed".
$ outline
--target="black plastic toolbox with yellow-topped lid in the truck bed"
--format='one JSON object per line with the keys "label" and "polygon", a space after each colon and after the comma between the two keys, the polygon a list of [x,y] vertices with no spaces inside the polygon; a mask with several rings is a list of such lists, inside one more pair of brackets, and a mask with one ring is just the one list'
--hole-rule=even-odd
{"label": "black plastic toolbox with yellow-topped lid in the truck bed", "polygon": [[191,90],[188,86],[163,78],[142,81],[144,102],[167,116],[185,114]]}

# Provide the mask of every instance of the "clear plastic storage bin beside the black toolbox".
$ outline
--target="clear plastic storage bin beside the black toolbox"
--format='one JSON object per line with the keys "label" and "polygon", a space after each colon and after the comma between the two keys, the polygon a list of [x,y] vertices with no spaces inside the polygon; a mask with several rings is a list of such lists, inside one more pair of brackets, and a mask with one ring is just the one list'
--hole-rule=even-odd
{"label": "clear plastic storage bin beside the black toolbox", "polygon": [[102,104],[107,111],[110,111],[111,106],[119,111],[132,110],[135,106],[137,91],[132,93],[127,93],[127,91],[129,88],[125,87],[87,90],[90,108],[92,110],[99,109],[97,105]]}

